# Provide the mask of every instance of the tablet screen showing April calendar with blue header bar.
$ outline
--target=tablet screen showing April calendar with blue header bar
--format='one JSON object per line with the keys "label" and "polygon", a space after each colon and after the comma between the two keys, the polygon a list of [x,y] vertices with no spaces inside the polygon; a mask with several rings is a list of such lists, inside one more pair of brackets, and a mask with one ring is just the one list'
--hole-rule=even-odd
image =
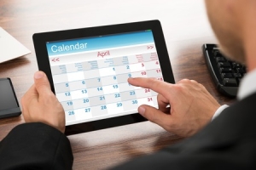
{"label": "tablet screen showing April calendar with blue header bar", "polygon": [[55,95],[66,125],[158,107],[157,93],[131,86],[129,77],[163,80],[151,30],[46,42]]}

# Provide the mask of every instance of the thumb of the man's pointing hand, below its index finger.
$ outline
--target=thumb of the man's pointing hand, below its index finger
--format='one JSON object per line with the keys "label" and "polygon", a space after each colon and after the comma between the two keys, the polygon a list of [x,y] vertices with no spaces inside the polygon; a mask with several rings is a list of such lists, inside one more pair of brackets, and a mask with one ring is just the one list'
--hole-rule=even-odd
{"label": "thumb of the man's pointing hand, below its index finger", "polygon": [[148,121],[150,122],[154,122],[158,125],[160,125],[160,127],[163,128],[167,128],[166,126],[168,124],[170,124],[170,116],[171,115],[167,115],[166,113],[152,107],[149,105],[141,105],[138,108],[138,112],[145,117],[146,119],[148,119]]}

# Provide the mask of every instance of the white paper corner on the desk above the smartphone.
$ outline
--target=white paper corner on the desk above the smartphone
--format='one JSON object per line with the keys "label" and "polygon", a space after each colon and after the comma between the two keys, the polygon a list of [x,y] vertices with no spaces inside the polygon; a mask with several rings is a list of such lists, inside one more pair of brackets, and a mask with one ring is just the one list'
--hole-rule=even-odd
{"label": "white paper corner on the desk above the smartphone", "polygon": [[0,27],[0,63],[30,53],[29,49]]}

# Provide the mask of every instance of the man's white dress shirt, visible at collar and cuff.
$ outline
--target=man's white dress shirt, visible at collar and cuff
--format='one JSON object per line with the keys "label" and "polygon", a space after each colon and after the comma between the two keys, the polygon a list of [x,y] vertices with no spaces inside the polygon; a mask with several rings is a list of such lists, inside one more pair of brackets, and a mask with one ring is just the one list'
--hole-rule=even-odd
{"label": "man's white dress shirt, visible at collar and cuff", "polygon": [[[242,78],[240,88],[238,89],[237,99],[241,100],[256,92],[256,69],[247,73],[245,77]],[[215,119],[225,108],[229,105],[222,105],[212,116],[212,120]]]}

